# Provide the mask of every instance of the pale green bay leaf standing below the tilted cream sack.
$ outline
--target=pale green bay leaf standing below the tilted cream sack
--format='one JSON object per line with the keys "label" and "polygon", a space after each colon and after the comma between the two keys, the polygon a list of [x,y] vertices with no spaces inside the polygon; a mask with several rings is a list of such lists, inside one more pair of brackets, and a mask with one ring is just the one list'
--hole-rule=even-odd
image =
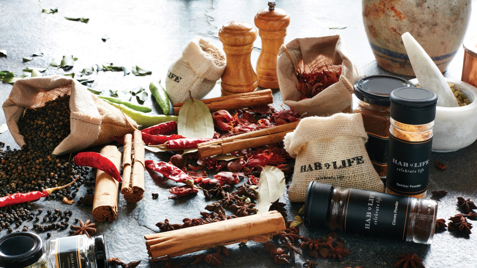
{"label": "pale green bay leaf standing below the tilted cream sack", "polygon": [[190,98],[179,111],[177,134],[187,138],[212,138],[214,121],[205,103]]}

